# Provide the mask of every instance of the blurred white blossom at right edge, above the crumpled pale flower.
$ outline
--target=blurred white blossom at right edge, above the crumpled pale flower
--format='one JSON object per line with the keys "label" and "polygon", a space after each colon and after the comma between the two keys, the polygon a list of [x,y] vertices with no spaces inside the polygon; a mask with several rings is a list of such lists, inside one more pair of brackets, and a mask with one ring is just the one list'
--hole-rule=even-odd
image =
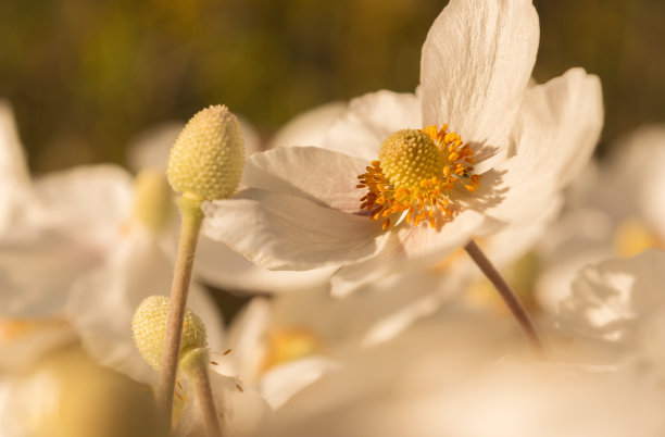
{"label": "blurred white blossom at right edge, above the crumpled pale flower", "polygon": [[585,265],[665,247],[665,127],[645,125],[573,184],[561,218],[538,245],[536,294],[554,311]]}

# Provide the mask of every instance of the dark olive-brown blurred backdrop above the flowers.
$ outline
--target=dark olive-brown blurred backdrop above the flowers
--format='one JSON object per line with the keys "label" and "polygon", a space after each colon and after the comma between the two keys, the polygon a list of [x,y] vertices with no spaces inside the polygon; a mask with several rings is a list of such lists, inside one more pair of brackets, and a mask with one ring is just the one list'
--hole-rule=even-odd
{"label": "dark olive-brown blurred backdrop above the flowers", "polygon": [[[125,162],[155,123],[226,103],[268,137],[317,104],[413,91],[446,0],[3,0],[0,96],[33,171]],[[601,76],[602,147],[665,120],[665,1],[535,1],[535,76]]]}

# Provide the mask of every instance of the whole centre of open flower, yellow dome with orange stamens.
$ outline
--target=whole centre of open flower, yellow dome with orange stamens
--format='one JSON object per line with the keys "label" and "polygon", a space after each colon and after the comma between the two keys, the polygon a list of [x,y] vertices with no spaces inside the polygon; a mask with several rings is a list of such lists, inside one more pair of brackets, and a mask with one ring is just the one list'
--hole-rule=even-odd
{"label": "whole centre of open flower, yellow dome with orange stamens", "polygon": [[398,130],[381,143],[379,161],[357,176],[357,188],[367,188],[361,209],[369,211],[372,220],[382,217],[384,229],[394,213],[405,213],[406,223],[435,227],[437,217],[450,221],[459,211],[455,188],[478,188],[474,163],[470,147],[446,124],[440,129]]}

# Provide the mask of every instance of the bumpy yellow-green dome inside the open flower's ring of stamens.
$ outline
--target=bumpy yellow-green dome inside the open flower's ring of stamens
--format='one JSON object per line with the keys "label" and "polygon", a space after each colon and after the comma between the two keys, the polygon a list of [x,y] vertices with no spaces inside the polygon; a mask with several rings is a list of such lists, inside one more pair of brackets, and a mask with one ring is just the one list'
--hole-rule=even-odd
{"label": "bumpy yellow-green dome inside the open flower's ring of stamens", "polygon": [[417,187],[421,180],[440,176],[441,152],[424,132],[402,129],[381,143],[379,161],[386,178],[396,188]]}

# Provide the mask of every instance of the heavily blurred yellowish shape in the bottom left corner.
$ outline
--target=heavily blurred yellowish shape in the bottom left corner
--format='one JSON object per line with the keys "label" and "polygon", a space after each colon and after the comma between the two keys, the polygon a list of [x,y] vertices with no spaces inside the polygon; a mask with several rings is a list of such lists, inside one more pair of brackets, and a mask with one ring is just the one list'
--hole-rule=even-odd
{"label": "heavily blurred yellowish shape in the bottom left corner", "polygon": [[100,366],[79,347],[0,376],[0,435],[77,437],[156,435],[152,395]]}

